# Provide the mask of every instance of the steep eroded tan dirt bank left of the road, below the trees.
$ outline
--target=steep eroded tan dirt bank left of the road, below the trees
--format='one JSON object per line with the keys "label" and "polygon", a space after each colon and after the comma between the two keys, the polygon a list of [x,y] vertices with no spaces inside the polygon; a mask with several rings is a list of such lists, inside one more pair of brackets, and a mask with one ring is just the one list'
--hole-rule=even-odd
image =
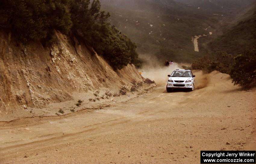
{"label": "steep eroded tan dirt bank left of the road, below the trees", "polygon": [[134,65],[115,72],[93,49],[56,35],[57,42],[43,47],[39,42],[19,45],[11,34],[0,33],[1,116],[23,111],[17,117],[28,117],[32,108],[40,110],[67,100],[74,100],[73,104],[79,98],[88,100],[88,95],[79,97],[80,93],[101,88],[118,91],[131,79],[142,81]]}

